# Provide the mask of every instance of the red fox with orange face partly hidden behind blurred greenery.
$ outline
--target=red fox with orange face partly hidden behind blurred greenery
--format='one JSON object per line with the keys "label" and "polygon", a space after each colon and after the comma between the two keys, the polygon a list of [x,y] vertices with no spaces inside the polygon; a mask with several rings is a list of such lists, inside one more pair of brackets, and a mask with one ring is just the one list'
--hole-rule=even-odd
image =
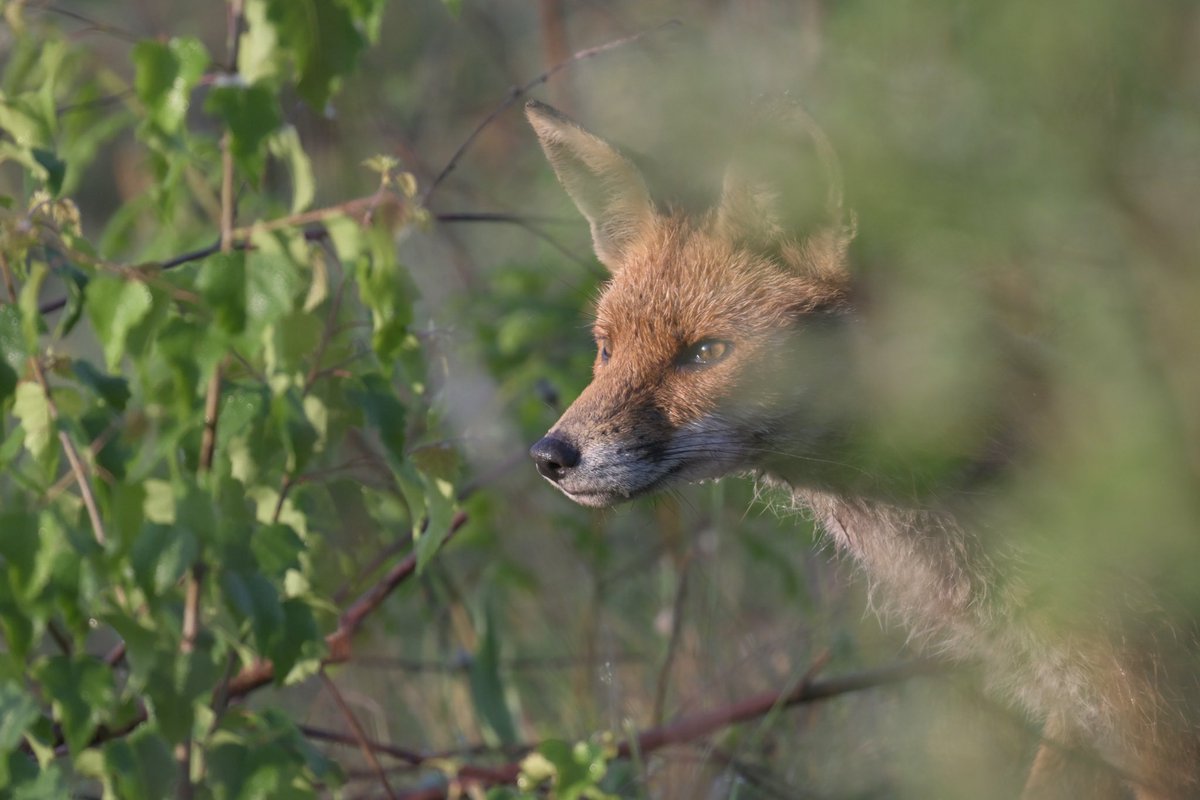
{"label": "red fox with orange face partly hidden behind blurred greenery", "polygon": [[[978,452],[929,491],[864,455],[869,390],[847,365],[870,302],[839,191],[823,215],[793,213],[788,198],[811,182],[779,186],[786,169],[732,157],[712,201],[673,205],[631,154],[541,102],[526,115],[608,272],[592,381],[530,449],[540,475],[592,507],[728,475],[781,487],[865,573],[884,616],[979,664],[1042,726],[1022,798],[1200,796],[1193,634],[1086,613],[1057,625],[1022,582],[1031,554],[977,513],[974,489],[1026,445],[1008,420],[1019,411],[997,411]],[[803,110],[772,122],[835,163]]]}

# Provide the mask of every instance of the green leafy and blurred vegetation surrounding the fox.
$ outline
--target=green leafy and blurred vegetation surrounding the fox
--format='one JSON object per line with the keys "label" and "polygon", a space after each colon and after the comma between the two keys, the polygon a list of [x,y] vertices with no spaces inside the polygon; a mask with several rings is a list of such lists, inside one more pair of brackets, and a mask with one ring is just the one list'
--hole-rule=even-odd
{"label": "green leafy and blurred vegetation surrounding the fox", "polygon": [[[1057,348],[1063,409],[1010,535],[1058,548],[1055,585],[1117,566],[1195,601],[1194,4],[247,0],[240,80],[220,5],[4,11],[7,795],[440,796],[544,741],[558,796],[1014,794],[1036,738],[970,676],[605,769],[612,741],[818,654],[905,654],[749,483],[596,513],[524,461],[587,380],[602,276],[520,103],[438,175],[511,86],[670,19],[534,94],[684,170],[746,97],[803,98],[881,299],[881,429],[931,461],[967,435],[998,295]],[[239,694],[263,658],[275,682]],[[572,777],[554,740],[600,766]]]}

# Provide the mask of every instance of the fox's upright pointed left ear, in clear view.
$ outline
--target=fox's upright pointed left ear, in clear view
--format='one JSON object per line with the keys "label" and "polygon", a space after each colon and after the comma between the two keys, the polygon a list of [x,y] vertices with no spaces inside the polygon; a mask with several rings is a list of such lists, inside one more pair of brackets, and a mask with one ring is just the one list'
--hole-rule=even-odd
{"label": "fox's upright pointed left ear, in clear view", "polygon": [[654,203],[641,172],[604,139],[545,103],[526,116],[566,193],[592,225],[596,258],[617,272],[629,246],[654,222]]}

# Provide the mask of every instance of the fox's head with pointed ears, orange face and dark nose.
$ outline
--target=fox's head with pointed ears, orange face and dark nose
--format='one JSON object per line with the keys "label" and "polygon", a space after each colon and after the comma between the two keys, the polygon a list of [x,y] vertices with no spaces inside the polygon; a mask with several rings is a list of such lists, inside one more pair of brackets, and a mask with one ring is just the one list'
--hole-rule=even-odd
{"label": "fox's head with pointed ears, orange face and dark nose", "polygon": [[592,384],[530,450],[541,475],[588,506],[731,473],[820,482],[845,401],[850,228],[793,230],[787,192],[811,186],[737,162],[708,210],[662,207],[614,146],[526,112],[611,273]]}

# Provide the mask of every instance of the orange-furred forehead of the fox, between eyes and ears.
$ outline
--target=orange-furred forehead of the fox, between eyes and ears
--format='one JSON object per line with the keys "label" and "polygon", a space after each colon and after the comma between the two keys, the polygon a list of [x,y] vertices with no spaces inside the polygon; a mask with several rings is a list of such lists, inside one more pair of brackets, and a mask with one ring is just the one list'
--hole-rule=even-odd
{"label": "orange-furred forehead of the fox, between eyes and ears", "polygon": [[600,295],[595,331],[662,347],[755,337],[787,325],[804,290],[770,259],[685,221],[665,221],[629,247]]}

